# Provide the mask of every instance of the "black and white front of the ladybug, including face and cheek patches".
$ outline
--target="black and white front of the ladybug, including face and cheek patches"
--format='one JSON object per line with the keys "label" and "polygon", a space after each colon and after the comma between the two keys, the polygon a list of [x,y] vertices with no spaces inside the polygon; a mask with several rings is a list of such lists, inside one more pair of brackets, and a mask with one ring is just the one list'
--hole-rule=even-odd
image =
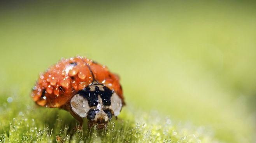
{"label": "black and white front of the ladybug, including face and cheek patches", "polygon": [[72,111],[79,117],[103,128],[112,119],[120,114],[121,98],[102,84],[93,84],[78,91],[70,100]]}

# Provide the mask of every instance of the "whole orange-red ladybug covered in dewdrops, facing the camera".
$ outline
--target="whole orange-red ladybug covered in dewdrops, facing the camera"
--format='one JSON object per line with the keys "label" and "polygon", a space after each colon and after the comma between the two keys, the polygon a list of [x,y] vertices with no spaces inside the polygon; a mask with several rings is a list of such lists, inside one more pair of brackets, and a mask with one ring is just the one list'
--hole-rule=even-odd
{"label": "whole orange-red ladybug covered in dewdrops, facing the camera", "polygon": [[43,107],[67,110],[83,125],[106,127],[125,105],[119,76],[86,57],[61,59],[40,74],[31,94]]}

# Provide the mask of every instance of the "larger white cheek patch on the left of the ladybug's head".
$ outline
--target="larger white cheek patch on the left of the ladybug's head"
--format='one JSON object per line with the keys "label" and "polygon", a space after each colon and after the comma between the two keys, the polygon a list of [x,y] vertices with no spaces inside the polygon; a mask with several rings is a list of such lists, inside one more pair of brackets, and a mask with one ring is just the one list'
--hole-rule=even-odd
{"label": "larger white cheek patch on the left of the ladybug's head", "polygon": [[73,112],[82,118],[85,118],[88,111],[91,109],[89,107],[88,100],[79,94],[72,97],[70,105]]}

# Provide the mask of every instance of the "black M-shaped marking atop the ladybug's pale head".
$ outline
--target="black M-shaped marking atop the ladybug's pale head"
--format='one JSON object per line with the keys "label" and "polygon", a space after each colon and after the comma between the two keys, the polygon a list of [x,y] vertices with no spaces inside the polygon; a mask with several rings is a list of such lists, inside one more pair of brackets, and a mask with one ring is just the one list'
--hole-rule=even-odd
{"label": "black M-shaped marking atop the ladybug's pale head", "polygon": [[112,96],[113,91],[106,86],[103,86],[103,91],[100,90],[97,85],[94,88],[95,90],[91,91],[91,88],[87,87],[84,90],[78,91],[78,93],[88,100],[90,107],[98,105],[98,95],[102,98],[103,105],[109,106],[111,104],[110,97]]}

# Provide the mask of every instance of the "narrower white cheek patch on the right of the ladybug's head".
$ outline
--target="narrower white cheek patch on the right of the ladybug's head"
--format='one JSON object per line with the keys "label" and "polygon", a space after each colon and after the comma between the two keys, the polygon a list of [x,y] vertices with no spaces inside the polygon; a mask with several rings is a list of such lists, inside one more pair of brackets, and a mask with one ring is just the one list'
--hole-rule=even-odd
{"label": "narrower white cheek patch on the right of the ladybug's head", "polygon": [[121,98],[114,92],[110,98],[111,100],[111,108],[114,111],[114,115],[117,116],[120,114],[122,109],[122,100]]}

